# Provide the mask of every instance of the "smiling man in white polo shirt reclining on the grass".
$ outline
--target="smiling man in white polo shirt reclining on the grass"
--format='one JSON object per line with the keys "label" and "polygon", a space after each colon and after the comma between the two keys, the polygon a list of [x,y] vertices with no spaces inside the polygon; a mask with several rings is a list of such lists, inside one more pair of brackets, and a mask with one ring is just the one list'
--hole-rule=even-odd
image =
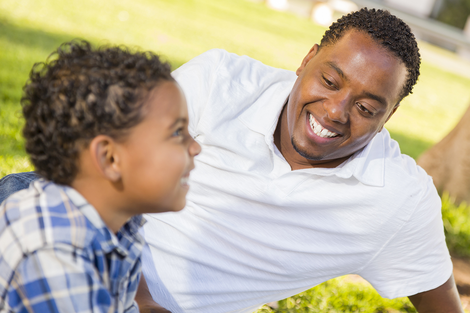
{"label": "smiling man in white polo shirt reclining on the grass", "polygon": [[361,9],[296,73],[223,50],[177,69],[203,150],[186,208],[147,215],[140,307],[249,313],[358,274],[420,313],[463,312],[431,177],[383,129],[419,63],[406,24]]}

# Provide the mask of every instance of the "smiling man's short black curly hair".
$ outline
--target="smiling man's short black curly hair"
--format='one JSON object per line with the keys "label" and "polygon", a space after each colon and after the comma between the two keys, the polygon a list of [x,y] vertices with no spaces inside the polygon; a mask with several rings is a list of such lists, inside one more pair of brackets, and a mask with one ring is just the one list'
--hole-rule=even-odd
{"label": "smiling man's short black curly hair", "polygon": [[409,26],[386,10],[361,8],[333,23],[321,38],[320,48],[337,42],[347,31],[355,29],[397,56],[407,69],[407,81],[399,100],[405,98],[416,84],[421,63],[418,44]]}

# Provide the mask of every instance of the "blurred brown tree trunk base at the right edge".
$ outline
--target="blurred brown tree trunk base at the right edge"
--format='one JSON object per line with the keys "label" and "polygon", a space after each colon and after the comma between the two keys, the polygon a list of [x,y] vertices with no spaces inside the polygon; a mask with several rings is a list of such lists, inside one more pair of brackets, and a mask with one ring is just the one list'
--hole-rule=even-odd
{"label": "blurred brown tree trunk base at the right edge", "polygon": [[432,176],[439,193],[448,191],[456,204],[470,203],[470,107],[457,126],[417,163]]}

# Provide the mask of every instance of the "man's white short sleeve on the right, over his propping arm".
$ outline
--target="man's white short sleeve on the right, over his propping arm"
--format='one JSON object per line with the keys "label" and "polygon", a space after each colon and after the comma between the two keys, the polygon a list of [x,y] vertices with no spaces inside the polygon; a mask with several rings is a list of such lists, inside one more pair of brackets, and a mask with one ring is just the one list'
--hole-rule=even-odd
{"label": "man's white short sleeve on the right, over his propping arm", "polygon": [[452,274],[441,201],[431,176],[424,175],[427,188],[413,214],[358,273],[385,298],[406,297],[437,288]]}

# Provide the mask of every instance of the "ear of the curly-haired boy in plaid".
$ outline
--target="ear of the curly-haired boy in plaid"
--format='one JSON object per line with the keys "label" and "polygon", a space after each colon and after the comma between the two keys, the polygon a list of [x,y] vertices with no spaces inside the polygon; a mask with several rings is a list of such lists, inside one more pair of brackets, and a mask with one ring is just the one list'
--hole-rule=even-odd
{"label": "ear of the curly-haired boy in plaid", "polygon": [[121,179],[120,158],[116,148],[116,142],[106,135],[94,137],[89,147],[95,168],[112,183]]}

